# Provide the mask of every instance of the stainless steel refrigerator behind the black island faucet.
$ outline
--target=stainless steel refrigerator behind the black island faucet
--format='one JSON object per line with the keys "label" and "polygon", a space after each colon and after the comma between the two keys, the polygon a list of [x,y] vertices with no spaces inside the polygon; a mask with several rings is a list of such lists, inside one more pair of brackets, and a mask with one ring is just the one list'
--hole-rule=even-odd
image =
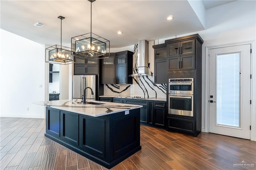
{"label": "stainless steel refrigerator behind the black island faucet", "polygon": [[92,88],[93,95],[89,88],[85,91],[86,99],[96,99],[96,75],[74,75],[73,77],[73,99],[82,99],[84,89]]}

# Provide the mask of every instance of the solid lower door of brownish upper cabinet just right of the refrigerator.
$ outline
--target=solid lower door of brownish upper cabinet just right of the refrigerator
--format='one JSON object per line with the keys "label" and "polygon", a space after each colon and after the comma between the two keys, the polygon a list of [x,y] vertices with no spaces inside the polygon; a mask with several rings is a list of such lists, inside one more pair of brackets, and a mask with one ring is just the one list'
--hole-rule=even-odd
{"label": "solid lower door of brownish upper cabinet just right of the refrigerator", "polygon": [[103,65],[102,66],[102,84],[115,84],[115,66]]}

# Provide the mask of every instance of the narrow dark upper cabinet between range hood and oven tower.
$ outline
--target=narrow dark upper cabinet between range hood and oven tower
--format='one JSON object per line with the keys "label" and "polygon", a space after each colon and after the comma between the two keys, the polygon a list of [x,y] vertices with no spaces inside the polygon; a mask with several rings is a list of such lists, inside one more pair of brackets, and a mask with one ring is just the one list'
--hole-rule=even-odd
{"label": "narrow dark upper cabinet between range hood and oven tower", "polygon": [[154,48],[154,83],[165,84],[166,79],[166,44],[153,45]]}

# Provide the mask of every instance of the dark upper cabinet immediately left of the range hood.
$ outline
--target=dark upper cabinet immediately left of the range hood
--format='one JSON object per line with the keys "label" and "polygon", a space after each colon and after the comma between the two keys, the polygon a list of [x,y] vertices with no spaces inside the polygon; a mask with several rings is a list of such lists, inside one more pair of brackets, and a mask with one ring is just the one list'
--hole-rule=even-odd
{"label": "dark upper cabinet immediately left of the range hood", "polygon": [[116,84],[132,84],[133,52],[116,53]]}

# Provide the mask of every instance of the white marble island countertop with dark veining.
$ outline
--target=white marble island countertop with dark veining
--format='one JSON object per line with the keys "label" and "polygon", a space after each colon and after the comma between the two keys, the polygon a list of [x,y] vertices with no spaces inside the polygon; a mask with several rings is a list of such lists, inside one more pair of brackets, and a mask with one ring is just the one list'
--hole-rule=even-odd
{"label": "white marble island countertop with dark veining", "polygon": [[99,116],[109,115],[113,113],[128,111],[130,109],[137,109],[142,107],[141,105],[130,105],[130,104],[113,103],[113,102],[105,102],[105,101],[87,101],[87,102],[95,102],[95,103],[103,103],[103,104],[100,104],[100,105],[93,105],[88,103],[84,104],[84,103],[81,103],[81,99],[46,101],[46,102],[42,102],[41,104],[46,105],[46,107],[79,113],[82,115],[87,115],[92,117],[99,117]]}

